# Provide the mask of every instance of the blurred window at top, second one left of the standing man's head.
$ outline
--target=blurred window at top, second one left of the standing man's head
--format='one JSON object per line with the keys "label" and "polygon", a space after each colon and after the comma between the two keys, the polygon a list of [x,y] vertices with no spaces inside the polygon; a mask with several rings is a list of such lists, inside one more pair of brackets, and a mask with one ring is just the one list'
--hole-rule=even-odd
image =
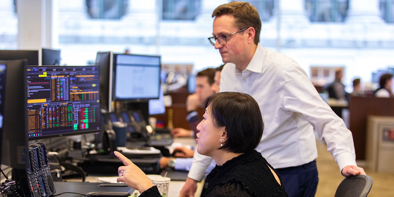
{"label": "blurred window at top, second one left of the standing man's head", "polygon": [[86,0],[87,13],[93,19],[120,19],[128,0]]}

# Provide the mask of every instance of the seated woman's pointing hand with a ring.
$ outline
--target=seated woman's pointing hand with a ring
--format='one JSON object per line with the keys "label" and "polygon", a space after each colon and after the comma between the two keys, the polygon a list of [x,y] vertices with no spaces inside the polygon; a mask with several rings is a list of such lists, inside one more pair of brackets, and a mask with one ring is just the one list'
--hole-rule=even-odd
{"label": "seated woman's pointing hand with a ring", "polygon": [[126,165],[118,168],[119,177],[116,179],[117,182],[124,182],[130,188],[138,190],[139,193],[154,186],[151,179],[137,165],[133,164],[120,152],[114,151],[114,153]]}

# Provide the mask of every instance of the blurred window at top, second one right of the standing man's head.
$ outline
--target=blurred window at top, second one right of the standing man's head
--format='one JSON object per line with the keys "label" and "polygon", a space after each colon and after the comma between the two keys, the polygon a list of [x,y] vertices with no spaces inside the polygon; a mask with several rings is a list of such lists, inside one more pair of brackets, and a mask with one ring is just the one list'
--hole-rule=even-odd
{"label": "blurred window at top, second one right of the standing man's head", "polygon": [[305,7],[312,22],[342,22],[349,0],[305,0]]}

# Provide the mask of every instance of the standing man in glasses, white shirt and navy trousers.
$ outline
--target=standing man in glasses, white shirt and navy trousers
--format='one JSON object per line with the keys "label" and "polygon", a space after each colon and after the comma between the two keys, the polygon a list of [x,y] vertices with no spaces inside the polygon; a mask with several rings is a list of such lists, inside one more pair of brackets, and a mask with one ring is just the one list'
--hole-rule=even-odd
{"label": "standing man in glasses, white shirt and navy trousers", "polygon": [[[266,123],[257,151],[279,172],[288,195],[316,193],[314,128],[342,175],[365,174],[356,165],[351,132],[320,98],[305,71],[293,59],[259,44],[261,20],[256,8],[247,2],[230,2],[217,7],[212,17],[209,40],[226,63],[220,91],[248,93],[257,100]],[[194,195],[209,163],[209,157],[195,153],[180,196]]]}

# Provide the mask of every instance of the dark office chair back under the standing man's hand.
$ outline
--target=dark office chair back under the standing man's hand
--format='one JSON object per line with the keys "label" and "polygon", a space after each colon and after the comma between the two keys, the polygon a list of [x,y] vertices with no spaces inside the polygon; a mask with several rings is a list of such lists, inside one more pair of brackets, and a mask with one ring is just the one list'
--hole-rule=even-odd
{"label": "dark office chair back under the standing man's hand", "polygon": [[339,184],[335,197],[366,197],[372,188],[372,178],[368,175],[346,177]]}

